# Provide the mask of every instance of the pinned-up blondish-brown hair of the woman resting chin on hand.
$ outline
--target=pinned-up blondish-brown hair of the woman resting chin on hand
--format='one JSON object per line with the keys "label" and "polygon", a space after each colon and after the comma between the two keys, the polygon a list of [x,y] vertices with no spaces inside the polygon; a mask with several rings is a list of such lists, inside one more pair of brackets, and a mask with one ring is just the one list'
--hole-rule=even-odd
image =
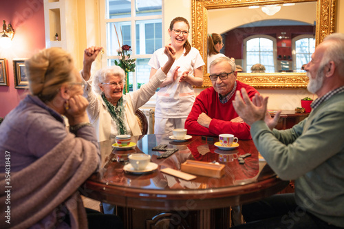
{"label": "pinned-up blondish-brown hair of the woman resting chin on hand", "polygon": [[52,100],[63,83],[73,82],[72,56],[58,47],[51,47],[34,54],[25,61],[30,93],[43,101]]}

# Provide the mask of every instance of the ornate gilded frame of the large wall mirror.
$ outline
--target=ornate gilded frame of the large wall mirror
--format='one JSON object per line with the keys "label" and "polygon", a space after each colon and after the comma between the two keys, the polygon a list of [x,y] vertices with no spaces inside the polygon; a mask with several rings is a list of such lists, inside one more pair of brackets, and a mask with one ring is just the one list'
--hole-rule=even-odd
{"label": "ornate gilded frame of the large wall mirror", "polygon": [[[335,32],[336,0],[192,0],[192,45],[200,51],[207,65],[208,10],[310,1],[316,1],[315,40],[318,45],[327,34]],[[211,87],[206,65],[202,87]],[[238,73],[237,80],[255,88],[306,88],[308,84],[308,77],[302,72]]]}

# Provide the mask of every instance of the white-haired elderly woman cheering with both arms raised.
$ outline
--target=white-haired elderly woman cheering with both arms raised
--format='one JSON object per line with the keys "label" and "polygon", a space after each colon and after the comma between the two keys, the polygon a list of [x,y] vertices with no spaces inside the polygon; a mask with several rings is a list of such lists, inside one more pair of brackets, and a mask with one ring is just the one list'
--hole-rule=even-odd
{"label": "white-haired elderly woman cheering with both arms raised", "polygon": [[94,46],[85,50],[84,67],[81,72],[87,82],[87,87],[84,89],[84,96],[89,101],[87,114],[96,129],[98,142],[113,139],[120,134],[141,135],[135,112],[166,80],[166,74],[175,61],[175,50],[166,45],[164,52],[169,57],[169,61],[155,73],[149,83],[125,95],[122,94],[125,72],[120,67],[105,67],[98,70],[91,78],[91,65],[100,50],[102,47]]}

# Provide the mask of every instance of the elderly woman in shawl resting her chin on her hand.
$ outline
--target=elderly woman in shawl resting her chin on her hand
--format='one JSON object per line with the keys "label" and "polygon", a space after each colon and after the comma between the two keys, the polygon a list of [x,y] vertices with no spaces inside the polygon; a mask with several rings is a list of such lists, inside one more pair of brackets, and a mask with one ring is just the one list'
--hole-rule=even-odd
{"label": "elderly woman in shawl resting her chin on her hand", "polygon": [[0,193],[1,212],[10,207],[10,223],[1,219],[0,228],[122,228],[114,215],[85,210],[80,198],[100,152],[71,55],[42,50],[25,61],[25,72],[30,94],[0,125],[0,185],[12,187],[10,204]]}

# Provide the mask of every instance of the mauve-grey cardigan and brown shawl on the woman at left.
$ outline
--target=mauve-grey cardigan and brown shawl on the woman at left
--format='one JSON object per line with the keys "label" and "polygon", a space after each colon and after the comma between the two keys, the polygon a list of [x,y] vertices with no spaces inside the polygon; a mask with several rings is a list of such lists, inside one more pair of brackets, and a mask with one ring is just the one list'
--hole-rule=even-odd
{"label": "mauve-grey cardigan and brown shawl on the woman at left", "polygon": [[[3,218],[0,228],[69,228],[61,222],[66,212],[72,228],[87,228],[77,189],[99,166],[94,128],[83,127],[76,136],[68,133],[60,114],[27,96],[1,123],[0,136],[0,185],[11,187],[10,204],[0,193],[0,210],[10,206],[11,223]],[[10,162],[10,183],[5,161]]]}

